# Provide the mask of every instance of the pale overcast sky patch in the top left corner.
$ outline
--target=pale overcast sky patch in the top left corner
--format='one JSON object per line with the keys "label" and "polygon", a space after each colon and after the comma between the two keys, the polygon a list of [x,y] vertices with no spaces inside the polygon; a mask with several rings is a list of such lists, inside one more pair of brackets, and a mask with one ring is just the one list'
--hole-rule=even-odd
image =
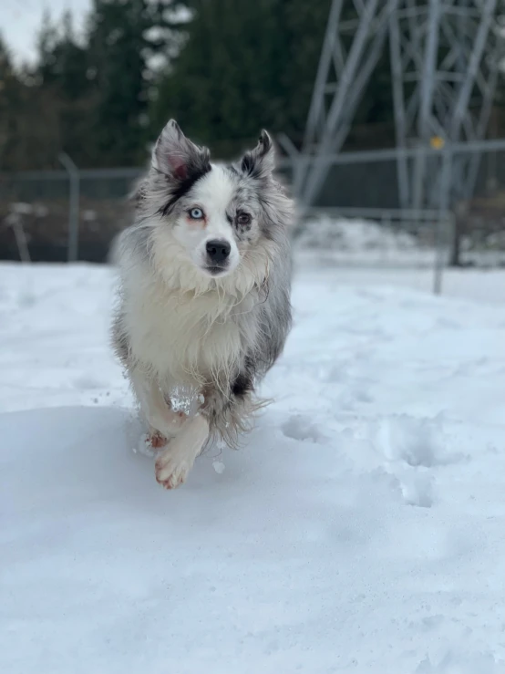
{"label": "pale overcast sky patch in the top left corner", "polygon": [[91,0],[0,0],[0,33],[17,62],[35,57],[36,32],[46,7],[51,16],[59,18],[70,9],[75,26],[82,26]]}

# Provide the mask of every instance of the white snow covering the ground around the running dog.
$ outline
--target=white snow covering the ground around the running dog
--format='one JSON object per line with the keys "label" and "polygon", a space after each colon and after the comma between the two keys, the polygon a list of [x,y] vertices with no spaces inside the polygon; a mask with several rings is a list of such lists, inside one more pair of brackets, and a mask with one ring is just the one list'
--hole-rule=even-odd
{"label": "white snow covering the ground around the running dog", "polygon": [[505,671],[505,273],[317,267],[241,451],[163,491],[105,266],[0,265],[0,671]]}

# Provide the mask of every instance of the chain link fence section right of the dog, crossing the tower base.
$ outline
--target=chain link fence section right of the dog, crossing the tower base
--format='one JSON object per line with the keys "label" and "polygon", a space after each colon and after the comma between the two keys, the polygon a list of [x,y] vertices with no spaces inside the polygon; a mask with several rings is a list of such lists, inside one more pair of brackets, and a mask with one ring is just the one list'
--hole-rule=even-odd
{"label": "chain link fence section right of the dog, crossing the tower base", "polygon": [[[419,160],[430,180],[416,184]],[[304,155],[283,161],[294,184],[306,161]],[[323,254],[336,248],[339,264],[428,264],[431,259],[443,265],[505,266],[505,140],[443,150],[342,153],[319,161],[328,162],[328,171],[316,207],[304,212],[301,240],[314,245],[319,240]],[[306,176],[303,166],[301,174]],[[419,202],[428,204],[424,208],[406,205],[416,202],[417,189]],[[324,225],[318,236],[315,213]],[[412,247],[417,254],[408,251]]]}

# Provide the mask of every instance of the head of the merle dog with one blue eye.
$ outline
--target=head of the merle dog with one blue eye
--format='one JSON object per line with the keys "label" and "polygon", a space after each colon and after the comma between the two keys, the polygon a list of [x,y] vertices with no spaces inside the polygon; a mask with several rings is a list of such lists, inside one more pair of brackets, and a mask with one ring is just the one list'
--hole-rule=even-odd
{"label": "head of the merle dog with one blue eye", "polygon": [[214,164],[209,150],[187,139],[170,120],[140,188],[140,217],[152,221],[156,214],[154,245],[167,254],[177,248],[178,259],[200,275],[230,275],[261,240],[274,245],[290,219],[291,202],[273,180],[273,168],[273,143],[266,131],[240,161]]}

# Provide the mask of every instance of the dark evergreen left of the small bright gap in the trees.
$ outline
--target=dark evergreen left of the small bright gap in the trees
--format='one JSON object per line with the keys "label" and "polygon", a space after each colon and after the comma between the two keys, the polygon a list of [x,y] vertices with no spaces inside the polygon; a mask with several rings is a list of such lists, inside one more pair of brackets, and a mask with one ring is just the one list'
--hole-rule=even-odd
{"label": "dark evergreen left of the small bright gap in the trees", "polygon": [[94,0],[88,26],[88,74],[97,97],[96,165],[144,161],[149,62],[161,47],[170,53],[177,27],[170,10],[178,5],[174,0]]}

